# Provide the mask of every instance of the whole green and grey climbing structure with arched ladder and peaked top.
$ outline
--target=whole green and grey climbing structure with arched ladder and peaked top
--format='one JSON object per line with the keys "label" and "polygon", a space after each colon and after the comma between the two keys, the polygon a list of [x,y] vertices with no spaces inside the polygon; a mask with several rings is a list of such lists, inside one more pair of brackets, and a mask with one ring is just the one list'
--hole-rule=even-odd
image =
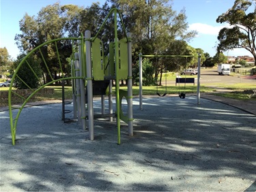
{"label": "whole green and grey climbing structure with arched ladder and peaked top", "polygon": [[[98,39],[98,34],[102,30],[106,20],[109,18],[110,14],[114,14],[115,22],[115,40],[109,43],[109,54],[104,56],[103,44],[100,39]],[[73,115],[77,118],[79,123],[81,123],[83,129],[88,129],[89,140],[94,140],[94,95],[101,95],[102,99],[102,114],[98,115],[100,118],[109,118],[112,121],[113,116],[116,117],[117,126],[117,144],[121,143],[120,135],[120,120],[128,124],[128,134],[133,135],[133,116],[132,116],[132,43],[131,43],[131,33],[126,33],[124,24],[122,22],[122,27],[124,31],[124,39],[117,38],[117,15],[122,22],[122,17],[117,9],[113,9],[106,16],[106,19],[102,23],[98,33],[91,37],[90,31],[85,31],[85,37],[64,37],[59,39],[53,39],[51,41],[45,42],[40,46],[34,48],[27,54],[26,57],[19,63],[16,68],[13,78],[10,83],[8,104],[10,111],[10,127],[12,134],[12,144],[15,145],[16,141],[16,128],[18,123],[18,118],[21,111],[25,107],[26,103],[33,97],[38,91],[43,89],[45,86],[51,85],[55,82],[65,82],[66,80],[72,81],[72,91],[73,91]],[[68,41],[72,42],[72,59],[71,59],[71,76],[65,76],[61,57],[59,56],[57,42]],[[75,52],[75,44],[78,45],[78,52]],[[55,47],[55,52],[57,54],[57,61],[59,61],[59,70],[61,77],[57,80],[53,78],[51,72],[48,69],[48,64],[46,59],[42,54],[42,49],[46,46]],[[42,61],[48,70],[48,74],[51,77],[51,82],[43,84],[38,89],[31,89],[28,84],[25,83],[18,76],[18,71],[22,65],[27,65],[27,69],[31,70],[35,76],[35,71],[27,61],[29,57],[33,54],[39,54],[42,57]],[[19,78],[31,92],[28,97],[19,95],[13,91],[14,79]],[[38,76],[36,76],[38,78]],[[39,78],[38,78],[39,79]],[[113,112],[113,80],[115,81],[115,112]],[[127,91],[120,89],[120,80],[127,80]],[[64,84],[64,83],[63,83]],[[106,89],[109,95],[109,114],[104,114],[104,95],[106,95]],[[64,94],[64,92],[62,92]],[[23,104],[15,108],[12,105],[12,97],[18,96],[23,99]],[[128,112],[125,116],[122,111],[122,99],[127,100]],[[65,97],[63,96],[63,112],[62,120],[65,121]],[[87,108],[86,108],[87,105]],[[13,110],[18,110],[16,117],[14,118]],[[88,120],[88,127],[86,127],[86,119]]]}

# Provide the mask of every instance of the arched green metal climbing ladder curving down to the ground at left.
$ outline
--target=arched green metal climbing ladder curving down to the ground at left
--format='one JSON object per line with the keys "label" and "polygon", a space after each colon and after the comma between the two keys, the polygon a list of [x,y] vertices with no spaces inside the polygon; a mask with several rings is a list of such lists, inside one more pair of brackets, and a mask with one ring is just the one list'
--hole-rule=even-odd
{"label": "arched green metal climbing ladder curving down to the ground at left", "polygon": [[[38,91],[40,91],[41,89],[43,89],[45,86],[48,86],[49,84],[53,84],[54,82],[58,82],[60,80],[70,80],[70,79],[83,79],[85,78],[85,76],[81,76],[81,77],[67,77],[67,78],[59,78],[58,80],[53,80],[53,78],[51,77],[52,81],[51,82],[48,82],[42,86],[40,86],[40,88],[36,89],[36,90],[33,90],[31,89],[27,84],[26,86],[31,89],[31,91],[33,91],[33,93],[31,93],[31,95],[29,95],[29,97],[27,98],[24,98],[22,97],[21,95],[18,95],[16,93],[14,93],[12,91],[12,85],[14,83],[14,78],[18,75],[18,70],[20,69],[21,65],[23,65],[24,63],[27,63],[27,58],[29,58],[35,51],[39,50],[40,51],[40,54],[42,56],[42,59],[44,61],[44,64],[46,65],[46,69],[48,70],[48,66],[46,64],[46,61],[44,60],[44,57],[42,55],[42,52],[40,50],[40,48],[42,48],[43,46],[46,46],[47,44],[51,44],[51,43],[55,43],[55,47],[56,47],[56,52],[57,52],[57,58],[59,60],[59,66],[60,66],[60,69],[61,69],[61,74],[63,74],[63,71],[62,71],[62,67],[61,67],[61,61],[60,61],[60,57],[59,57],[59,51],[58,51],[58,48],[57,48],[57,44],[56,42],[58,41],[61,41],[61,40],[80,40],[81,41],[81,44],[82,44],[82,48],[83,48],[83,44],[84,44],[84,41],[83,41],[83,36],[82,37],[63,37],[63,38],[58,38],[58,39],[53,39],[51,41],[48,41],[48,42],[45,42],[44,44],[41,44],[40,46],[34,48],[33,50],[31,50],[31,52],[29,52],[29,54],[27,54],[22,61],[20,61],[20,63],[18,64],[18,67],[16,68],[15,72],[14,72],[14,75],[12,77],[12,80],[10,82],[10,88],[9,88],[9,91],[8,91],[8,106],[9,106],[9,114],[10,114],[10,127],[11,127],[11,134],[12,134],[12,144],[15,145],[15,140],[16,140],[16,127],[17,127],[17,123],[18,123],[18,118],[20,116],[20,113],[21,111],[23,110],[23,108],[25,107],[26,103],[29,101],[29,99],[31,99],[31,97],[33,97],[33,95],[35,95],[35,93],[38,93]],[[74,50],[72,50],[72,57],[74,58]],[[29,63],[27,63],[27,65],[29,65]],[[29,68],[31,69],[31,71],[33,72],[33,74],[35,74],[35,72],[33,71],[33,69],[31,68],[31,66],[29,65]],[[36,76],[36,74],[35,74]],[[37,77],[37,76],[36,76]],[[19,77],[18,77],[19,78]],[[38,78],[38,77],[37,77]],[[24,82],[25,83],[25,82]],[[21,97],[23,99],[25,99],[25,101],[23,102],[23,104],[20,106],[20,108],[18,108],[18,113],[16,114],[16,118],[13,118],[12,116],[12,93],[14,93],[15,95],[18,95],[18,97]],[[14,109],[17,109],[17,108],[14,108]]]}

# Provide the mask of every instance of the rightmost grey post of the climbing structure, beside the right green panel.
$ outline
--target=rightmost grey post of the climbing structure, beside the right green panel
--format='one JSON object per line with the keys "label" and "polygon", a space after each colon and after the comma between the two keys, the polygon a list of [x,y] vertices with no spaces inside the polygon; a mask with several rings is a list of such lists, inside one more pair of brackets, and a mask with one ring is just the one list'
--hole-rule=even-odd
{"label": "rightmost grey post of the climbing structure, beside the right green panel", "polygon": [[133,116],[132,116],[132,33],[127,33],[128,37],[128,133],[133,135]]}

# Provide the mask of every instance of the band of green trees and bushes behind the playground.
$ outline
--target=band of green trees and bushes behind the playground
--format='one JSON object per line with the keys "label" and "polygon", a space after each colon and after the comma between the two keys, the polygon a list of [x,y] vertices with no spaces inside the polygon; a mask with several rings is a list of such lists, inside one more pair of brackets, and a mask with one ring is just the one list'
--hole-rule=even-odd
{"label": "band of green trees and bushes behind the playground", "polygon": [[[181,10],[175,12],[169,0],[106,0],[103,5],[92,3],[89,7],[79,7],[77,5],[60,5],[54,3],[42,7],[35,16],[25,14],[20,19],[20,33],[16,34],[16,44],[20,49],[20,56],[16,61],[12,61],[6,48],[0,48],[1,66],[0,72],[13,74],[22,57],[33,48],[59,37],[79,37],[90,30],[92,36],[96,35],[102,25],[103,20],[113,7],[117,7],[122,14],[122,20],[126,26],[126,31],[133,34],[132,37],[132,65],[134,84],[138,83],[139,76],[139,53],[143,54],[175,54],[175,55],[197,55],[201,54],[201,65],[212,67],[216,63],[224,63],[227,57],[222,53],[223,50],[232,48],[246,48],[256,59],[255,54],[255,31],[256,31],[256,9],[248,13],[248,7],[253,6],[255,1],[236,0],[233,7],[221,16],[216,22],[227,22],[233,28],[222,29],[218,35],[218,48],[216,55],[210,54],[188,46],[188,42],[197,35],[197,31],[188,31],[186,22],[186,12]],[[118,23],[118,37],[124,37],[121,23]],[[238,34],[238,35],[234,35]],[[104,43],[104,54],[109,52],[108,44],[114,40],[113,16],[104,25],[104,30],[98,34]],[[61,67],[65,74],[70,74],[70,56],[72,53],[72,42],[57,42],[59,55],[61,56]],[[58,61],[55,46],[45,46],[42,52],[36,52],[30,58],[30,65],[35,70],[35,74],[42,80],[34,79],[29,76],[29,70],[22,69],[25,76],[25,83],[29,86],[37,87],[41,83],[51,81],[51,76],[57,78],[59,74]],[[42,61],[41,54],[44,56],[48,69]],[[143,61],[143,84],[154,85],[162,84],[162,73],[165,71],[180,71],[187,67],[197,67],[197,58],[151,58]],[[38,67],[35,67],[38,65]],[[245,65],[245,64],[244,64]],[[256,65],[256,63],[255,63]],[[7,73],[7,74],[8,74]],[[24,89],[24,82],[15,80],[18,89]]]}

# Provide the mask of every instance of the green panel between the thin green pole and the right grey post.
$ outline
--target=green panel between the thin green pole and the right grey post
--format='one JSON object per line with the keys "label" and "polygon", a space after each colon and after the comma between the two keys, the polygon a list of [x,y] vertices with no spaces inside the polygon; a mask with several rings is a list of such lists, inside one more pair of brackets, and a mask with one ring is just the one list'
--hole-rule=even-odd
{"label": "green panel between the thin green pole and the right grey post", "polygon": [[127,39],[119,40],[119,67],[117,73],[119,73],[120,80],[126,80],[128,78],[128,44]]}

